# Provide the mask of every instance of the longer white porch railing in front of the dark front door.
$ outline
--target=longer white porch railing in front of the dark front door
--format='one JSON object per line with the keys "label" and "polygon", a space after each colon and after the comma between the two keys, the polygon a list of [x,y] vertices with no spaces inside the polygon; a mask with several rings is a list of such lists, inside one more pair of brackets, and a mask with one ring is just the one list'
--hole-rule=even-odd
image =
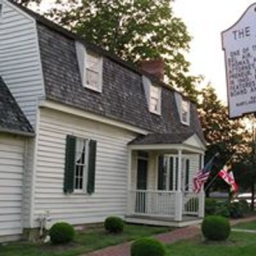
{"label": "longer white porch railing in front of the dark front door", "polygon": [[175,216],[175,192],[132,190],[129,194],[129,214]]}

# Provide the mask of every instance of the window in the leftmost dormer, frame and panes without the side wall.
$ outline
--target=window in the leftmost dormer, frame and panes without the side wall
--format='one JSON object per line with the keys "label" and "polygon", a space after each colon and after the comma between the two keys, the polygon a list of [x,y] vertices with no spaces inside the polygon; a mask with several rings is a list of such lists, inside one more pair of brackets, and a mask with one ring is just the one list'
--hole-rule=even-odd
{"label": "window in the leftmost dormer, frame and panes without the side wall", "polygon": [[92,52],[87,52],[86,58],[86,87],[92,90],[101,90],[101,57]]}

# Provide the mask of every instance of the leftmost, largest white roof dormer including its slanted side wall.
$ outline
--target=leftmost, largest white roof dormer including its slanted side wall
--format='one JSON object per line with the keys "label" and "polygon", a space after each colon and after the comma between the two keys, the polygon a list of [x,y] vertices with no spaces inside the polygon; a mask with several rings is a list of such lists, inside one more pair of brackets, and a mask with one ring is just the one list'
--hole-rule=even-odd
{"label": "leftmost, largest white roof dormer including its slanted side wall", "polygon": [[102,56],[76,42],[77,62],[84,88],[102,92]]}

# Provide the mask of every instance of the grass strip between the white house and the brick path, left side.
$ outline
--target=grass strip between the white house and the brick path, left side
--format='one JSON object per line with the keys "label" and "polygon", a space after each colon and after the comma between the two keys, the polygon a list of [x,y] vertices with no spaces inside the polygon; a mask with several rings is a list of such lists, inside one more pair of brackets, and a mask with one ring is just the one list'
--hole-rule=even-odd
{"label": "grass strip between the white house and the brick path, left side", "polygon": [[143,225],[125,225],[122,234],[108,234],[103,228],[77,232],[75,241],[67,246],[51,244],[10,243],[0,245],[1,256],[76,256],[107,246],[132,241],[138,237],[168,232],[170,228]]}

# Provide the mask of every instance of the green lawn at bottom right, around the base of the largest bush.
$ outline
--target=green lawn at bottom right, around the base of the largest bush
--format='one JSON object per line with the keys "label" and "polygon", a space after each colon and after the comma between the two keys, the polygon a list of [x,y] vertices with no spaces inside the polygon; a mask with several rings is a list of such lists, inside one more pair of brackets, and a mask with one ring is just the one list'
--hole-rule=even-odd
{"label": "green lawn at bottom right, around the base of the largest bush", "polygon": [[204,242],[202,237],[167,246],[168,256],[255,256],[256,234],[232,232],[227,242]]}

